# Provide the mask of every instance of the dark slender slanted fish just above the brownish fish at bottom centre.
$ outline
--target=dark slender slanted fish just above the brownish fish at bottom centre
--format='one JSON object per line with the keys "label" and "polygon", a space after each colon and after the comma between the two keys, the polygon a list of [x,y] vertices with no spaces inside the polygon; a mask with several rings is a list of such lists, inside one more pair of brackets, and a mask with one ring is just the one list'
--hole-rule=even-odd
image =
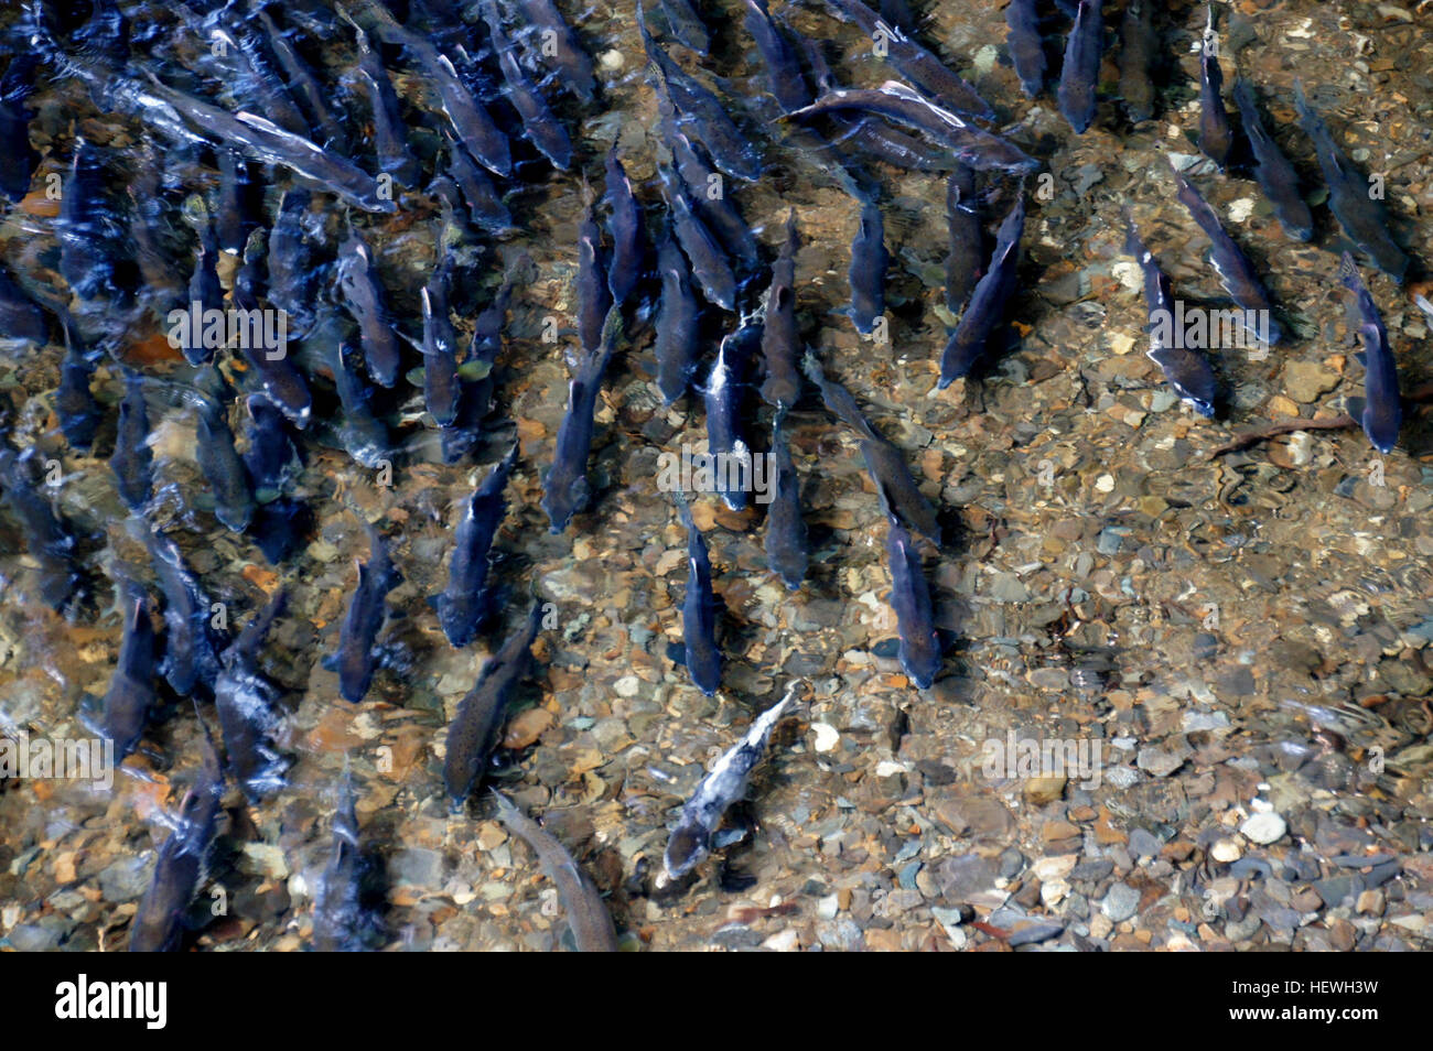
{"label": "dark slender slanted fish just above the brownish fish at bottom centre", "polygon": [[507,717],[513,690],[532,660],[533,640],[542,621],[543,604],[533,601],[526,623],[483,664],[477,682],[459,702],[453,722],[449,723],[443,786],[454,810],[463,806],[483,780],[487,759],[497,745],[497,732]]}

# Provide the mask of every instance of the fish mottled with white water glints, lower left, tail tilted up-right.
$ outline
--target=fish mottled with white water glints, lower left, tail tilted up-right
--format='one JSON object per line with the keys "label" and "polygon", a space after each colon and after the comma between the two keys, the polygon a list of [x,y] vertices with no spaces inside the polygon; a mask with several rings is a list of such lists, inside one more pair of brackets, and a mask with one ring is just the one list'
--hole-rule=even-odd
{"label": "fish mottled with white water glints, lower left, tail tilted up-right", "polygon": [[222,670],[214,684],[214,707],[219,715],[229,770],[245,799],[259,803],[284,788],[289,760],[277,736],[282,723],[279,690],[258,667],[258,652],[274,620],[284,611],[287,593],[279,589],[268,606],[239,631],[221,657]]}

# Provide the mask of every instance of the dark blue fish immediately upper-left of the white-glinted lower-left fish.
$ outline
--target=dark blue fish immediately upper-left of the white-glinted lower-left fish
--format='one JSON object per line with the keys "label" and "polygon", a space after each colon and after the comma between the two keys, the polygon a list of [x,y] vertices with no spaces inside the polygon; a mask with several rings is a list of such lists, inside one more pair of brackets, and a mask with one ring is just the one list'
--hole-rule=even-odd
{"label": "dark blue fish immediately upper-left of the white-glinted lower-left fish", "polygon": [[149,550],[165,597],[165,656],[159,673],[181,697],[193,693],[195,686],[212,690],[221,669],[218,654],[228,640],[214,626],[208,596],[173,540],[138,515],[130,518],[129,528]]}

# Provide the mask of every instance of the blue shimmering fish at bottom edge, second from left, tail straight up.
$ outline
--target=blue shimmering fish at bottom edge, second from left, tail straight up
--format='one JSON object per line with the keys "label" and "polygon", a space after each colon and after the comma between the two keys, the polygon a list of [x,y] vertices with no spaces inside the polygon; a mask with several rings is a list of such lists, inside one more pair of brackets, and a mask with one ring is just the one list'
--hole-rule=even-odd
{"label": "blue shimmering fish at bottom edge, second from left, tail straight up", "polygon": [[314,948],[320,952],[364,952],[387,939],[378,896],[381,872],[358,838],[353,779],[334,810],[334,846],[314,893]]}

